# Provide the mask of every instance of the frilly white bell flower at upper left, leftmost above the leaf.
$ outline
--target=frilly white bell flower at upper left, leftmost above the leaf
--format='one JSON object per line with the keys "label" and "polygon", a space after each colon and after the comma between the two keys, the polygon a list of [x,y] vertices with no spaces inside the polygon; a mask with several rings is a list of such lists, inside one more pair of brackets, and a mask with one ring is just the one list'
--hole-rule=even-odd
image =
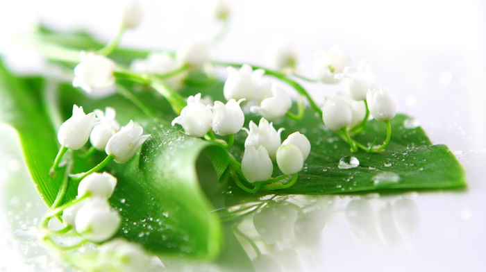
{"label": "frilly white bell flower at upper left, leftmost above the leaf", "polygon": [[81,51],[80,59],[81,62],[74,67],[74,87],[81,87],[91,94],[93,89],[106,89],[115,84],[115,76],[113,76],[117,68],[115,62],[85,51]]}

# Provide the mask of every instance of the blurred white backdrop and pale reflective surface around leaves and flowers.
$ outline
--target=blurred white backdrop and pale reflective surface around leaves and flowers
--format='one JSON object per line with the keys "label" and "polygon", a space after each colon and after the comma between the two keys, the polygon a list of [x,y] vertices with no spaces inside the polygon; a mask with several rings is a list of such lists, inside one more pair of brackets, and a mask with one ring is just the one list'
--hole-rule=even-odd
{"label": "blurred white backdrop and pale reflective surface around leaves and flowers", "polygon": [[[266,44],[280,37],[299,51],[299,73],[312,76],[315,54],[337,44],[353,57],[353,65],[362,59],[371,62],[399,112],[417,118],[435,144],[447,144],[467,171],[466,192],[322,198],[319,203],[333,203],[333,209],[326,216],[317,213],[323,225],[315,232],[319,243],[294,252],[298,260],[299,256],[312,260],[297,270],[283,265],[287,267],[283,271],[486,271],[486,4],[479,0],[229,2],[230,28],[215,46],[215,59],[269,66]],[[108,41],[117,31],[117,3],[2,1],[0,50],[15,71],[39,71],[42,60],[12,46],[12,38],[42,22],[58,31],[87,30]],[[142,1],[146,11],[142,24],[126,32],[121,46],[177,49],[199,33],[209,40],[221,28],[212,17],[212,3]],[[317,101],[342,88],[305,86]],[[36,220],[44,207],[15,142],[15,134],[1,128],[0,271],[39,271],[48,262],[48,271],[53,267],[64,271],[35,245]]]}

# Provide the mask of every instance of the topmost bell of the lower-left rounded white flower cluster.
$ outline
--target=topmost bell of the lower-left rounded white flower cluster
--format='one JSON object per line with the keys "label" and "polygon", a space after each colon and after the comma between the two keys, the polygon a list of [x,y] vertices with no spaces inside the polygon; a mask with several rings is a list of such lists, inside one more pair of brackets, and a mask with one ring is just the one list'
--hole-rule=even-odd
{"label": "topmost bell of the lower-left rounded white flower cluster", "polygon": [[117,178],[110,173],[91,173],[78,185],[78,197],[90,194],[90,197],[109,198],[117,186]]}

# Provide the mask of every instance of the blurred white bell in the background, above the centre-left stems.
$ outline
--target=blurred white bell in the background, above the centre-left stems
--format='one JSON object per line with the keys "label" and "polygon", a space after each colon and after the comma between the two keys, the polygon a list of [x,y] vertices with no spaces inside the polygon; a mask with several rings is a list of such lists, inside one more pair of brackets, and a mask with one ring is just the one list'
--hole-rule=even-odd
{"label": "blurred white bell in the background, above the centre-left stems", "polygon": [[193,40],[187,40],[176,53],[176,60],[179,65],[189,65],[192,70],[201,70],[208,62],[211,53],[209,42],[202,36]]}

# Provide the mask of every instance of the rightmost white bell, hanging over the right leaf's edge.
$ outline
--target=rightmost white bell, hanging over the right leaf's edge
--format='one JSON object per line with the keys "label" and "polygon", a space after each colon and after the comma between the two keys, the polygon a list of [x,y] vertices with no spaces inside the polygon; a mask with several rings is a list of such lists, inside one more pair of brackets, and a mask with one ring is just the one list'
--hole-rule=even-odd
{"label": "rightmost white bell, hanging over the right leaf's edge", "polygon": [[385,121],[395,117],[395,101],[383,85],[369,90],[366,101],[368,102],[369,113],[376,121]]}

